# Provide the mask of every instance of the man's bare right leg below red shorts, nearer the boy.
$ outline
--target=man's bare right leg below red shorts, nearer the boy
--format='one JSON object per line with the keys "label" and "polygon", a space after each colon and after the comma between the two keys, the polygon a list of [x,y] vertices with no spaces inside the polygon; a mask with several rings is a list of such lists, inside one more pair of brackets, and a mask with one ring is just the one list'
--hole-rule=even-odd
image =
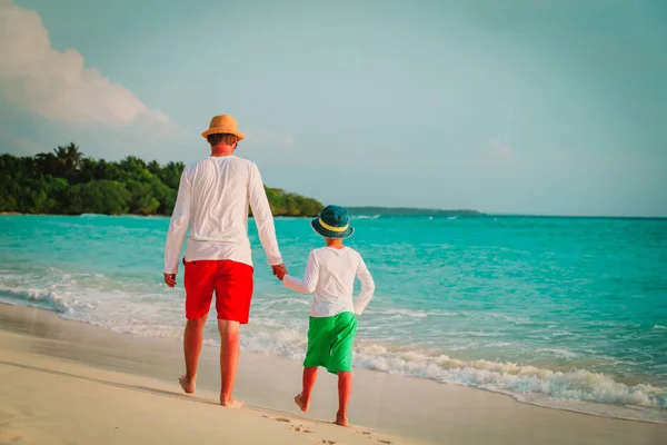
{"label": "man's bare right leg below red shorts, nearer the boy", "polygon": [[235,400],[231,396],[239,365],[239,322],[218,320],[218,330],[220,332],[220,404],[230,408],[240,408],[243,403]]}

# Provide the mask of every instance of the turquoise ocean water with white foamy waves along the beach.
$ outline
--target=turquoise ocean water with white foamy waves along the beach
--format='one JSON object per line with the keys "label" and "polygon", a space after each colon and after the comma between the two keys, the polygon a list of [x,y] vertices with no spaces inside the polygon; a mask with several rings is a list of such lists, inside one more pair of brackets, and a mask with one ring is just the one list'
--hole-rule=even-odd
{"label": "turquoise ocean water with white foamy waves along the beach", "polygon": [[[162,284],[167,218],[0,216],[0,301],[122,333],[182,338]],[[667,220],[359,217],[349,245],[377,285],[355,366],[476,386],[518,400],[667,423]],[[303,273],[319,239],[276,220]],[[302,359],[310,297],[271,276],[255,224],[242,348]],[[211,317],[215,319],[215,317]],[[217,345],[215,322],[206,343]]]}

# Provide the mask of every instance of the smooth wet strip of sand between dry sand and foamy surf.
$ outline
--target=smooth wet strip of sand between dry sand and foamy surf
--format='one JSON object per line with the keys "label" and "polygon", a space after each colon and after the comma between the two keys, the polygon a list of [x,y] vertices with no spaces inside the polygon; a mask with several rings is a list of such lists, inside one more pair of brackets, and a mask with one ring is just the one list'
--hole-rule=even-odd
{"label": "smooth wet strip of sand between dry sand and foamy surf", "polygon": [[[176,382],[182,372],[180,342],[123,335],[23,306],[0,305],[0,322],[3,337],[20,338],[17,340],[23,345],[20,350],[94,369],[151,378],[172,390],[180,389]],[[82,344],[80,338],[87,338],[87,343]],[[4,357],[4,342],[2,345]],[[203,347],[198,382],[198,387],[209,397],[212,394],[213,400],[219,385],[217,353],[216,347]],[[4,372],[4,367],[0,366],[0,369]],[[328,421],[336,407],[335,377],[320,373],[312,412],[302,415],[291,400],[300,387],[300,364],[295,360],[242,352],[237,395],[253,407],[273,411],[288,418],[297,417],[299,422],[303,416],[317,419],[310,422]],[[395,438],[398,441],[395,443],[520,443],[528,436],[535,439],[539,436],[535,443],[556,444],[563,443],[563,424],[569,425],[571,439],[585,437],[583,443],[653,444],[667,439],[664,424],[540,407],[479,388],[368,369],[355,369],[354,392],[350,422],[382,432],[374,434],[402,437]]]}

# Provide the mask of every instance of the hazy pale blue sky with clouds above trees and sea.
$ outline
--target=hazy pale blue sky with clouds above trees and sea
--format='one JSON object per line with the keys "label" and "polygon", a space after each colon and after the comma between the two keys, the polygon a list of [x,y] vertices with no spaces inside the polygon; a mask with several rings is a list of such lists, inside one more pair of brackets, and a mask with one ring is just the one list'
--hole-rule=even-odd
{"label": "hazy pale blue sky with clouds above trees and sea", "polygon": [[344,206],[667,216],[661,0],[0,0],[0,152],[192,162]]}

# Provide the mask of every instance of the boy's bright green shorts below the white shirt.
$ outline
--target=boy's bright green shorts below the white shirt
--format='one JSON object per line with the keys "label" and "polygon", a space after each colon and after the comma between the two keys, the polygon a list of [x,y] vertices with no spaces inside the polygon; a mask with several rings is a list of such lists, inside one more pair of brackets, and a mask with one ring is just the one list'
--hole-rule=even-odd
{"label": "boy's bright green shorts below the white shirt", "polygon": [[331,317],[310,317],[308,352],[303,366],[323,366],[329,373],[352,370],[352,345],[357,333],[357,317],[340,313]]}

